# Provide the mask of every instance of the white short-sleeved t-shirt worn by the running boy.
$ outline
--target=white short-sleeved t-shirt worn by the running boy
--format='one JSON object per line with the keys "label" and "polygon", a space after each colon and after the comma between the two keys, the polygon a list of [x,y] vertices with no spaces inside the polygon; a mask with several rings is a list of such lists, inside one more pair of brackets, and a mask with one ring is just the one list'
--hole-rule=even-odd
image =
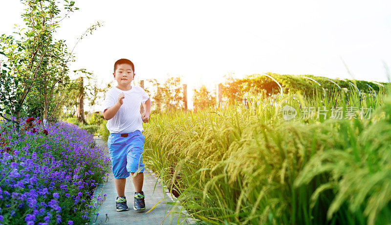
{"label": "white short-sleeved t-shirt worn by the running boy", "polygon": [[148,100],[148,94],[141,87],[131,86],[129,91],[122,91],[116,87],[111,88],[106,93],[104,109],[109,109],[118,101],[118,94],[123,92],[125,98],[124,103],[119,108],[118,112],[109,119],[106,124],[110,133],[130,133],[136,130],[144,131],[140,105]]}

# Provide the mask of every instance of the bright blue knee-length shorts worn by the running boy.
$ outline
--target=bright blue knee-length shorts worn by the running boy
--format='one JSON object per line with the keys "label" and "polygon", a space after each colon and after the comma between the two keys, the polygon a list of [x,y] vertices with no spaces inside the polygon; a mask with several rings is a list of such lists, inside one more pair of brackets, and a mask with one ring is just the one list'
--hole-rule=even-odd
{"label": "bright blue knee-length shorts worn by the running boy", "polygon": [[127,178],[138,168],[141,169],[139,172],[144,171],[144,135],[141,131],[133,131],[127,137],[110,133],[107,146],[115,179]]}

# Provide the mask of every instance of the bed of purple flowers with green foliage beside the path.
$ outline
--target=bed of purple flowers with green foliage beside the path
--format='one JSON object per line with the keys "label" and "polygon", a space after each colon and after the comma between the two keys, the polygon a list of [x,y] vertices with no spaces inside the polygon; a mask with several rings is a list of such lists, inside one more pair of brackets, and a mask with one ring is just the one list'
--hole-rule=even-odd
{"label": "bed of purple flowers with green foliage beside the path", "polygon": [[0,224],[84,224],[109,158],[87,131],[30,117],[20,132],[0,122]]}

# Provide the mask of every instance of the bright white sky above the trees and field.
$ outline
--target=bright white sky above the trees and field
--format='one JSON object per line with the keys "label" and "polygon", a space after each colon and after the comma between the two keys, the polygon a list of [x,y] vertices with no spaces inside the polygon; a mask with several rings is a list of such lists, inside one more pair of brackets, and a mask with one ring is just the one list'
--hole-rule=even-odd
{"label": "bright white sky above the trees and field", "polygon": [[[0,34],[23,24],[19,0],[0,0]],[[56,38],[72,49],[95,21],[104,21],[76,46],[71,69],[112,80],[115,60],[129,58],[137,79],[181,76],[189,101],[201,84],[223,75],[273,72],[387,81],[391,69],[390,0],[134,1],[76,0]],[[64,15],[64,13],[63,13]]]}

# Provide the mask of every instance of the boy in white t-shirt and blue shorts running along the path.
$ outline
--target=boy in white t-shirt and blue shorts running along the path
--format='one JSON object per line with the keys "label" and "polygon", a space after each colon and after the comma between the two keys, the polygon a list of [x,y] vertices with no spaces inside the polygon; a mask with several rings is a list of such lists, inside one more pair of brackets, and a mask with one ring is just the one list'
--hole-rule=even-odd
{"label": "boy in white t-shirt and blue shorts running along the path", "polygon": [[[131,86],[134,78],[134,65],[129,59],[119,59],[114,63],[113,76],[117,86],[106,94],[103,116],[108,120],[106,127],[110,131],[108,139],[109,155],[114,174],[117,199],[117,211],[126,211],[128,206],[125,197],[126,178],[138,171],[133,177],[134,210],[144,210],[144,164],[142,152],[144,136],[142,122],[149,121],[151,99],[141,88]],[[140,114],[140,104],[143,104],[144,113]]]}

